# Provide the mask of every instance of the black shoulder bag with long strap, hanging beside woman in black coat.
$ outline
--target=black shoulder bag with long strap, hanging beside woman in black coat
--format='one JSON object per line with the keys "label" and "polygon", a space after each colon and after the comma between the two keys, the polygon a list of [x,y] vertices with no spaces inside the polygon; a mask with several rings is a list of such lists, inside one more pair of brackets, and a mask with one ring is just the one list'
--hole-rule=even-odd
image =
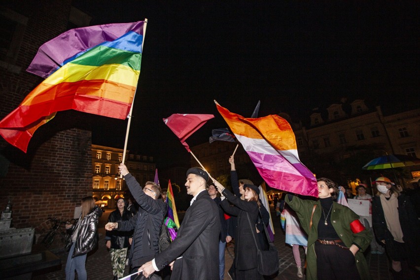
{"label": "black shoulder bag with long strap, hanging beside woman in black coat", "polygon": [[255,247],[257,248],[257,267],[258,272],[262,275],[273,275],[279,271],[279,250],[274,246],[273,242],[267,233],[267,228],[264,226],[264,232],[267,237],[269,248],[268,250],[259,249],[257,239],[255,238],[255,226],[252,226],[248,212],[246,212],[249,226],[251,228],[252,237],[254,238]]}

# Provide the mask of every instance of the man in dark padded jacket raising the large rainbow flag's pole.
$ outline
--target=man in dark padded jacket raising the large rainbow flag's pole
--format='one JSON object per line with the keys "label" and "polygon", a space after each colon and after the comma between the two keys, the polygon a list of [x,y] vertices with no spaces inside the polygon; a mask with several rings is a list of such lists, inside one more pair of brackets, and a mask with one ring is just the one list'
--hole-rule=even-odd
{"label": "man in dark padded jacket raising the large rainbow flag's pole", "polygon": [[159,233],[164,215],[167,212],[167,204],[158,199],[161,188],[157,184],[146,182],[144,188],[141,189],[136,178],[128,172],[124,164],[121,163],[118,168],[124,176],[130,192],[139,203],[139,211],[130,220],[108,222],[105,229],[134,230],[129,255],[129,265],[131,266],[131,272],[134,273],[159,252]]}

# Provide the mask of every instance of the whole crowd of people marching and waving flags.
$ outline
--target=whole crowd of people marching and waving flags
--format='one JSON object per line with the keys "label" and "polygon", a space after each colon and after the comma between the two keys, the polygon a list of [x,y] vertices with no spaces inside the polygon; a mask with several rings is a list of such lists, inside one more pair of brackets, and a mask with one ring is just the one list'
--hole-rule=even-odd
{"label": "whole crowd of people marching and waving flags", "polygon": [[[145,278],[223,280],[226,244],[232,240],[235,256],[229,277],[264,279],[258,270],[258,250],[267,249],[270,242],[262,234],[270,215],[259,199],[259,187],[247,179],[238,179],[233,156],[229,163],[233,192],[207,171],[199,167],[188,169],[185,187],[192,196],[190,207],[176,238],[163,250],[159,242],[167,218],[166,189],[153,182],[140,187],[127,167],[119,165],[133,198],[118,198],[116,210],[105,225],[114,280],[123,277],[126,264],[132,274],[139,272]],[[358,194],[351,197],[369,201],[367,216],[358,216],[337,203],[339,187],[328,178],[317,179],[318,199],[285,195],[281,204],[286,220],[285,242],[292,247],[299,278],[369,280],[365,259],[368,248],[371,253],[386,252],[394,279],[404,279],[401,262],[406,261],[408,267],[416,265],[419,219],[410,199],[388,178],[380,177],[373,183],[377,195],[367,194],[367,186],[359,184]],[[76,272],[77,279],[87,279],[86,255],[98,242],[102,211],[91,196],[82,199],[81,209],[78,222],[66,226],[73,232],[66,280],[74,280]],[[305,250],[305,262],[299,246]]]}

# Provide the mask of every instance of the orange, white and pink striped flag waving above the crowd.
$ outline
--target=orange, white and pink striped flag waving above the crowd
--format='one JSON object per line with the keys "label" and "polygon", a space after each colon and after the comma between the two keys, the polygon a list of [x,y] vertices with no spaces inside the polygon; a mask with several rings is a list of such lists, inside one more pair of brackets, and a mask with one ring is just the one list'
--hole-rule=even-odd
{"label": "orange, white and pink striped flag waving above the crowd", "polygon": [[216,107],[268,186],[318,197],[315,176],[300,162],[286,120],[277,115],[244,118],[217,103]]}

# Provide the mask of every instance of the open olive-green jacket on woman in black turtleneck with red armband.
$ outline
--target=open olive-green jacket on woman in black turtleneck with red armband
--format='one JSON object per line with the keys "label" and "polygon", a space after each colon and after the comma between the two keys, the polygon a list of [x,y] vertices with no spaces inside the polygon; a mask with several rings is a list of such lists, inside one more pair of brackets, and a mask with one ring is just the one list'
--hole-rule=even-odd
{"label": "open olive-green jacket on woman in black turtleneck with red armband", "polygon": [[[315,241],[318,239],[318,222],[321,218],[321,202],[313,200],[304,200],[299,197],[294,196],[290,201],[288,195],[285,199],[287,205],[292,208],[302,225],[302,228],[308,234],[308,249],[306,253],[307,260],[307,270],[306,270],[306,279],[307,280],[317,280],[316,277],[316,254],[315,254]],[[309,224],[312,216],[312,211],[316,205],[314,216],[312,218],[312,227],[309,229]],[[363,255],[363,252],[366,248],[369,247],[372,240],[372,234],[370,230],[363,230],[359,233],[353,233],[350,229],[350,223],[359,216],[350,210],[349,207],[333,202],[333,208],[331,212],[331,222],[337,232],[340,239],[346,245],[350,247],[353,243],[357,244],[360,249],[355,254],[356,267],[359,271],[361,280],[370,280],[369,268],[366,263],[366,259]]]}

